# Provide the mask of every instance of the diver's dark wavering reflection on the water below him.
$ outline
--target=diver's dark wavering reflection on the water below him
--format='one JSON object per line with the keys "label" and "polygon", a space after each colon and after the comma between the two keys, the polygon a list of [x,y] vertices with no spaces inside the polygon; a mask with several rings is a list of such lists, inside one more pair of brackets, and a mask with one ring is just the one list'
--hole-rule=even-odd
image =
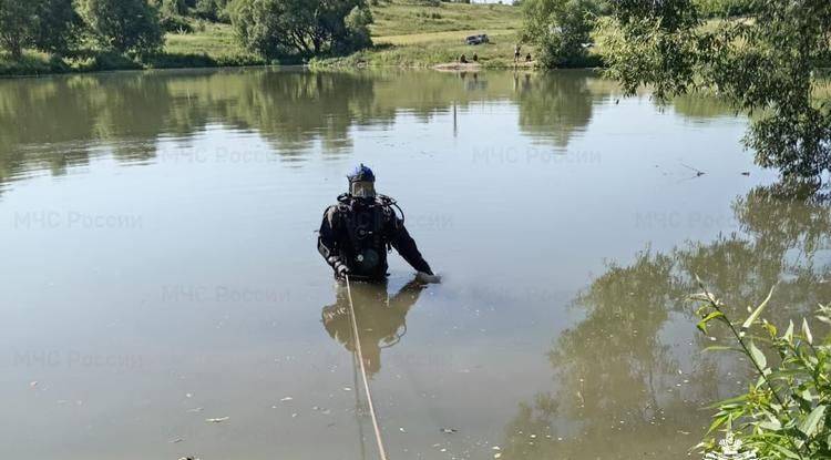
{"label": "diver's dark wavering reflection on the water below him", "polygon": [[[371,377],[381,369],[381,349],[398,344],[407,334],[407,314],[419,300],[424,285],[413,279],[391,296],[387,283],[353,283],[352,301],[363,352],[363,366]],[[355,352],[349,295],[346,284],[338,284],[336,303],[324,307],[322,321],[331,338]]]}

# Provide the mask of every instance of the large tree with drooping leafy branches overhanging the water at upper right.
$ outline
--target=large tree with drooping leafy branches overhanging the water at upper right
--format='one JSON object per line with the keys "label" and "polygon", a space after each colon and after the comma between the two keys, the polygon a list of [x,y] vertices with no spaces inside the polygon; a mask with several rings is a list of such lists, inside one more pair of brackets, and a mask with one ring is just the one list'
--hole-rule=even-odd
{"label": "large tree with drooping leafy branches overhanging the water at upper right", "polygon": [[831,102],[813,98],[831,59],[831,2],[758,0],[745,18],[700,18],[696,0],[615,2],[608,74],[630,94],[650,84],[659,100],[717,92],[756,115],[746,145],[757,163],[818,180],[831,167]]}

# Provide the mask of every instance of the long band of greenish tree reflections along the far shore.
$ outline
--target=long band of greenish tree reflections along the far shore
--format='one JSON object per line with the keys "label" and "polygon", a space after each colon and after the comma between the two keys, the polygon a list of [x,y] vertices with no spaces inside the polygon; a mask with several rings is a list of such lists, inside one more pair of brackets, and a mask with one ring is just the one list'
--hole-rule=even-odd
{"label": "long band of greenish tree reflections along the far shore", "polygon": [[[348,152],[351,129],[389,125],[399,113],[428,122],[453,105],[519,105],[521,132],[567,145],[595,102],[615,92],[591,72],[520,74],[416,71],[173,71],[0,82],[0,183],[31,170],[62,174],[90,150],[116,160],[155,156],[160,137],[189,142],[211,125],[256,132],[276,154],[320,143]],[[98,146],[104,149],[98,149]]]}

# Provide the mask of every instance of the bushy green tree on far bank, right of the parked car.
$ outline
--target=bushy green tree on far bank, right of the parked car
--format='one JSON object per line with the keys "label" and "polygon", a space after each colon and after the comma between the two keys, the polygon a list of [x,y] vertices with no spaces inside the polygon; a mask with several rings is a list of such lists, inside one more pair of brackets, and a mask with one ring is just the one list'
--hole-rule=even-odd
{"label": "bushy green tree on far bank, right of the parked car", "polygon": [[523,2],[523,37],[537,45],[546,68],[577,67],[586,60],[597,6],[594,0],[527,0]]}

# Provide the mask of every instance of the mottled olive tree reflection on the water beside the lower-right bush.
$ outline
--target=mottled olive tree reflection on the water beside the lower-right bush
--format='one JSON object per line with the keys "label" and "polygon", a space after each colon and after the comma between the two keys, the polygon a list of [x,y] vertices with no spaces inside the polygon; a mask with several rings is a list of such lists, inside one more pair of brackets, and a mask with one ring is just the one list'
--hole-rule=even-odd
{"label": "mottled olive tree reflection on the water beside the lower-right bush", "polygon": [[[548,352],[556,390],[520,405],[506,427],[505,457],[684,456],[708,425],[704,407],[733,396],[746,372],[731,356],[702,352],[712,343],[695,333],[694,306],[685,301],[698,290],[695,275],[737,315],[778,282],[772,319],[801,317],[831,298],[831,262],[820,260],[831,243],[830,211],[827,196],[757,187],[733,204],[741,234],[611,266],[575,298],[585,319]],[[727,343],[724,331],[711,333]]]}

